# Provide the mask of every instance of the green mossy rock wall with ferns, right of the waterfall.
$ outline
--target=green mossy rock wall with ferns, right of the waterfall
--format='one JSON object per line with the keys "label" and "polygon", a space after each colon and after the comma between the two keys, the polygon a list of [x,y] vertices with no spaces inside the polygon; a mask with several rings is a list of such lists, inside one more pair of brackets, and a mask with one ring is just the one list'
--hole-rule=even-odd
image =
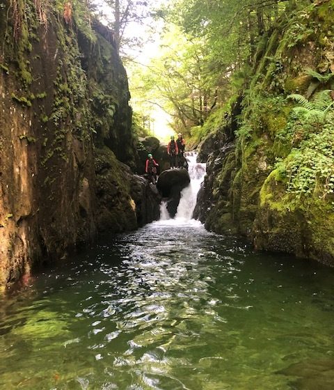
{"label": "green mossy rock wall with ferns, right of the waterfall", "polygon": [[[213,153],[202,152],[208,175],[197,210],[218,233],[331,265],[333,95],[321,91],[334,87],[333,17],[334,1],[313,3],[262,42],[235,150],[226,153],[214,135]],[[229,122],[223,131],[231,133]]]}

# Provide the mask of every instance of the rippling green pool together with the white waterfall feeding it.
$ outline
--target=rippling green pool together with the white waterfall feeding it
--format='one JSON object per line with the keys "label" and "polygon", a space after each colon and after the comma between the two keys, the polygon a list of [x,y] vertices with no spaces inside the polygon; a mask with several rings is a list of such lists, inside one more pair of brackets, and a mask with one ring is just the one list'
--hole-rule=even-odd
{"label": "rippling green pool together with the white waterfall feeding it", "polygon": [[3,389],[332,388],[334,270],[205,231],[190,213],[203,169],[175,219],[105,236],[3,300]]}

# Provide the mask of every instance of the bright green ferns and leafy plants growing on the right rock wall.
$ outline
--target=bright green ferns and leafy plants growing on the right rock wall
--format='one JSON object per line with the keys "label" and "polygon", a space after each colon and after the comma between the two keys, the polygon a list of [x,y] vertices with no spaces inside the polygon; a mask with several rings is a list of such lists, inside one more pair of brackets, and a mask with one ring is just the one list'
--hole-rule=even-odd
{"label": "bright green ferns and leafy plants growing on the right rock wall", "polygon": [[334,110],[330,91],[312,101],[289,95],[299,107],[292,110],[287,127],[278,137],[292,143],[291,153],[276,168],[286,173],[287,192],[299,201],[312,196],[326,198],[334,189]]}

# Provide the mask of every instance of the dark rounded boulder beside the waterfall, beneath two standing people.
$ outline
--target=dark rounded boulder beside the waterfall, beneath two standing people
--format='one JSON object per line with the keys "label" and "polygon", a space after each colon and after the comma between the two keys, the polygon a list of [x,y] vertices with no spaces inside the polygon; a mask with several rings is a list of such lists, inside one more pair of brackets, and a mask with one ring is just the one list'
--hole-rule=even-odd
{"label": "dark rounded boulder beside the waterfall, beneath two standing people", "polygon": [[171,217],[175,217],[182,189],[189,183],[190,176],[186,169],[168,169],[159,176],[157,189],[163,198],[168,199],[167,210]]}

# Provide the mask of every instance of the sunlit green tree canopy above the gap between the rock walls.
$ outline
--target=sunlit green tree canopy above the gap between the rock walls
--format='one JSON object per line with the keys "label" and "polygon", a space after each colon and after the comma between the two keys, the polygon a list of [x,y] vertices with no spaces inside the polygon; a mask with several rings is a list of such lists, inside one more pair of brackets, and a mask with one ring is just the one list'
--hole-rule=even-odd
{"label": "sunlit green tree canopy above the gap between the rock walls", "polygon": [[165,22],[159,55],[146,69],[137,69],[145,99],[170,112],[175,131],[190,134],[202,127],[244,84],[259,43],[278,20],[288,20],[289,13],[309,3],[170,1],[157,12]]}

